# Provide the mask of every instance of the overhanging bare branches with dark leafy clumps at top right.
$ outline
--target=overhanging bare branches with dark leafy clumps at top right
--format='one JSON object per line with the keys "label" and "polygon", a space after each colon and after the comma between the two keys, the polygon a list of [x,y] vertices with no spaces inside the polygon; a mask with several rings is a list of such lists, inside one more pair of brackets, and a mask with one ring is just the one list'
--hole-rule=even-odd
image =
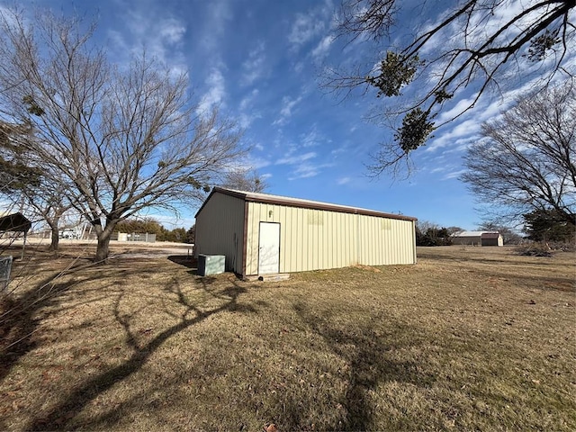
{"label": "overhanging bare branches with dark leafy clumps at top right", "polygon": [[[424,9],[430,4],[437,8],[438,2],[412,6],[415,10],[411,16],[428,16]],[[400,29],[393,28],[401,2],[343,0],[338,34],[356,43],[375,41],[377,58],[370,58],[365,65],[356,64],[352,70],[327,69],[325,85],[345,94],[358,88],[369,94],[374,89],[376,97],[399,101],[394,109],[371,115],[401,119],[400,125],[392,121],[393,141],[383,142],[373,155],[372,174],[398,168],[402,161],[410,166],[411,151],[424,145],[438,127],[471,109],[488,90],[498,89],[499,79],[506,73],[526,78],[535,72],[530,65],[536,64],[545,82],[558,71],[570,75],[573,71],[566,70],[564,64],[576,32],[571,22],[574,5],[575,0],[525,4],[460,0],[452,2],[436,23],[423,22],[415,34],[401,35]],[[455,111],[437,123],[437,114],[446,101],[462,94],[464,88],[471,91],[472,99],[450,105]],[[409,89],[410,93],[402,97]]]}

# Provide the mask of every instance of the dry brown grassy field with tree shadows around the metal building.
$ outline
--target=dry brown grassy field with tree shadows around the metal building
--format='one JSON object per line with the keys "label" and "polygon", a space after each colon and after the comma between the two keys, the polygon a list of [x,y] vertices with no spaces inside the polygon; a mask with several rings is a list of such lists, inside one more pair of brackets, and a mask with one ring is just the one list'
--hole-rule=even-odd
{"label": "dry brown grassy field with tree shadows around the metal building", "polygon": [[2,430],[576,430],[573,254],[421,248],[274,283],[77,255],[15,265]]}

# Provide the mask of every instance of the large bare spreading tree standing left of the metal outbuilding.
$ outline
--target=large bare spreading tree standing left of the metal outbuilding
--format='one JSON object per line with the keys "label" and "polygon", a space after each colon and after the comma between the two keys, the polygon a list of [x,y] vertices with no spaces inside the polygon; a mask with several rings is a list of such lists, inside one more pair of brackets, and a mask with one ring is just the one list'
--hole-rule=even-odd
{"label": "large bare spreading tree standing left of the metal outbuilding", "polygon": [[83,25],[2,10],[0,101],[31,126],[27,150],[63,179],[54,188],[94,226],[105,262],[119,221],[202,200],[245,149],[218,112],[196,113],[185,74],[145,54],[114,67]]}

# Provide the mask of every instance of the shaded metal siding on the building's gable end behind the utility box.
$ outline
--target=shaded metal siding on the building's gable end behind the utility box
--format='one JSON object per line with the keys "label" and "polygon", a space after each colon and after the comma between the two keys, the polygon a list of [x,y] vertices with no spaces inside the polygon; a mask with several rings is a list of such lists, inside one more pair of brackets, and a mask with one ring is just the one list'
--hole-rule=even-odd
{"label": "shaded metal siding on the building's gable end behind the utility box", "polygon": [[195,254],[225,255],[226,270],[239,274],[244,242],[244,200],[212,194],[196,215]]}

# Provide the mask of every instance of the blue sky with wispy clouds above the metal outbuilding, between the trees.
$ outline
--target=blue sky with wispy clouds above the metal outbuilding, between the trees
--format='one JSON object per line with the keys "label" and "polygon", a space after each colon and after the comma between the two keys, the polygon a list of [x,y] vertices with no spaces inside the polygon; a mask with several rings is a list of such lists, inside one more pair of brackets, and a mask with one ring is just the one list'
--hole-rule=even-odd
{"label": "blue sky with wispy clouds above the metal outbuilding, between the trees", "polygon": [[[371,163],[369,155],[378,143],[390,139],[389,130],[365,121],[374,109],[374,95],[341,101],[320,88],[322,67],[346,64],[374,49],[333,39],[338,0],[33,4],[96,18],[95,41],[107,47],[112,61],[126,61],[130,52],[145,47],[175,70],[188,71],[199,108],[219,105],[244,128],[244,139],[253,148],[245,163],[266,177],[266,192],[401,212],[443,226],[474,229],[482,220],[474,211],[474,197],[458,180],[464,148],[478,139],[482,121],[530,86],[512,83],[502,97],[484,98],[473,111],[437,130],[427,147],[415,153],[416,171],[407,180],[385,174],[373,180],[365,164]],[[396,31],[434,19],[406,14]],[[461,94],[454,104],[466,97],[470,94]],[[195,210],[184,210],[177,225],[192,225]]]}

